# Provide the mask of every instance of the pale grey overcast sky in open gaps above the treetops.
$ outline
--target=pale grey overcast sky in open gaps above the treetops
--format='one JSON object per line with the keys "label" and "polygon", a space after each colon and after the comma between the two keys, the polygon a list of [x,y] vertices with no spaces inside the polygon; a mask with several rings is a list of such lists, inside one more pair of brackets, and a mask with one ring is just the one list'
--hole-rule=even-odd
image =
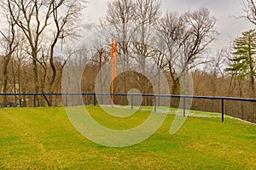
{"label": "pale grey overcast sky in open gaps above the treetops", "polygon": [[[89,1],[88,7],[84,9],[84,26],[88,29],[93,23],[98,23],[99,18],[104,18],[107,11],[107,1]],[[240,37],[242,31],[256,27],[246,19],[236,19],[244,14],[241,0],[162,0],[161,6],[163,14],[166,11],[184,12],[201,7],[208,8],[217,19],[216,30],[220,35],[212,44],[214,48],[225,48],[236,37]]]}

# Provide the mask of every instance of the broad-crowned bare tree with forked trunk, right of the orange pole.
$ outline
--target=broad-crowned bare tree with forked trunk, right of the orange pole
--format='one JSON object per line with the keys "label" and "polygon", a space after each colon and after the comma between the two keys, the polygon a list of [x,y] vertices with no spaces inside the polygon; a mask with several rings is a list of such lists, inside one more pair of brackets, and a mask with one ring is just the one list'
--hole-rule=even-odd
{"label": "broad-crowned bare tree with forked trunk, right of the orange pole", "polygon": [[168,13],[157,28],[166,43],[167,70],[172,78],[172,94],[178,94],[179,79],[206,62],[202,59],[213,41],[215,19],[207,8],[184,14]]}

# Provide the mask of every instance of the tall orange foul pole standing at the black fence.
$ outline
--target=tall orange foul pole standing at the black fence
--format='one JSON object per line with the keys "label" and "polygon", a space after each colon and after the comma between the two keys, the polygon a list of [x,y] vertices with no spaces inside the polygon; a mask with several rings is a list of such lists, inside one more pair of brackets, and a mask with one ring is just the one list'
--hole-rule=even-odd
{"label": "tall orange foul pole standing at the black fence", "polygon": [[113,81],[116,77],[116,40],[111,42],[111,107],[113,107]]}

